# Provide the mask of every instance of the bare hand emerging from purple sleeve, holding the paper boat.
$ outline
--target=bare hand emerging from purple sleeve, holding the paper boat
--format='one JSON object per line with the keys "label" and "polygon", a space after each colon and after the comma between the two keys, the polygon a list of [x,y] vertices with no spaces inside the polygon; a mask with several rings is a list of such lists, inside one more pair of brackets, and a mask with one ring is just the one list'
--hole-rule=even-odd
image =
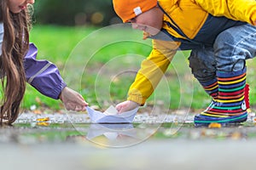
{"label": "bare hand emerging from purple sleeve, holding the paper boat", "polygon": [[85,107],[88,105],[81,94],[67,87],[63,88],[60,99],[67,111],[85,111]]}

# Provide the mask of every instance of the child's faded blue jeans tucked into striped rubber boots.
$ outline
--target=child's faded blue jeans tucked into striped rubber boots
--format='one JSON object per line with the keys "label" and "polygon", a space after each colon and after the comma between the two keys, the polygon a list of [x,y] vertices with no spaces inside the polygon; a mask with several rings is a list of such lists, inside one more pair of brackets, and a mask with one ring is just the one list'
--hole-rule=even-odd
{"label": "child's faded blue jeans tucked into striped rubber boots", "polygon": [[241,71],[246,59],[256,55],[256,27],[234,26],[221,32],[213,47],[193,49],[189,56],[192,74],[200,82],[216,77],[216,71]]}

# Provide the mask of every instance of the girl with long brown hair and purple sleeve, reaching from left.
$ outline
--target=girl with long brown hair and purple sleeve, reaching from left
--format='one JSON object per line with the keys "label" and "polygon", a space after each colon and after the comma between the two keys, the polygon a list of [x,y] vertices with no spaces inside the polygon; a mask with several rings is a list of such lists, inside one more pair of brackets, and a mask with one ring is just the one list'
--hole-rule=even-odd
{"label": "girl with long brown hair and purple sleeve, reaching from left", "polygon": [[88,105],[80,94],[67,88],[55,65],[47,60],[36,60],[37,48],[29,43],[28,33],[30,16],[27,7],[33,3],[34,0],[0,2],[1,124],[11,124],[19,116],[26,82],[50,98],[61,99],[67,110],[85,111]]}

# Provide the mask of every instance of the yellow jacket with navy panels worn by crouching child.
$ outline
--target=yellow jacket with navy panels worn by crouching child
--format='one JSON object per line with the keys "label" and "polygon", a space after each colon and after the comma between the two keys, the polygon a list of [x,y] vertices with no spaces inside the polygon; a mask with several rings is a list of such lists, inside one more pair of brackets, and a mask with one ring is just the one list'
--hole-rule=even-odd
{"label": "yellow jacket with navy panels worn by crouching child", "polygon": [[[223,29],[223,22],[224,25],[233,26],[241,24],[240,21],[252,25],[256,21],[255,0],[159,0],[158,3],[165,13],[162,29],[172,40],[155,38],[152,41],[151,54],[143,60],[135,82],[129,89],[128,100],[141,105],[154,92],[177,49],[182,47],[183,41],[189,39],[193,44],[196,40],[203,44],[201,37],[212,35],[214,31],[218,35]],[[212,32],[212,26],[219,27]],[[207,32],[203,32],[205,30]],[[213,41],[211,38],[205,41]]]}

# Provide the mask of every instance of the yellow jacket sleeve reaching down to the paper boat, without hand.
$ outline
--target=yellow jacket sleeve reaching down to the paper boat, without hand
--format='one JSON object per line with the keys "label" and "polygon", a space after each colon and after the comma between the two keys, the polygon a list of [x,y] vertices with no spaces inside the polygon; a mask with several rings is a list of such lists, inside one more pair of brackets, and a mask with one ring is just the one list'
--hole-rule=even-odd
{"label": "yellow jacket sleeve reaching down to the paper boat, without hand", "polygon": [[179,42],[153,41],[154,48],[148,58],[143,60],[141,69],[129,89],[128,100],[144,105],[165,74],[179,45]]}

